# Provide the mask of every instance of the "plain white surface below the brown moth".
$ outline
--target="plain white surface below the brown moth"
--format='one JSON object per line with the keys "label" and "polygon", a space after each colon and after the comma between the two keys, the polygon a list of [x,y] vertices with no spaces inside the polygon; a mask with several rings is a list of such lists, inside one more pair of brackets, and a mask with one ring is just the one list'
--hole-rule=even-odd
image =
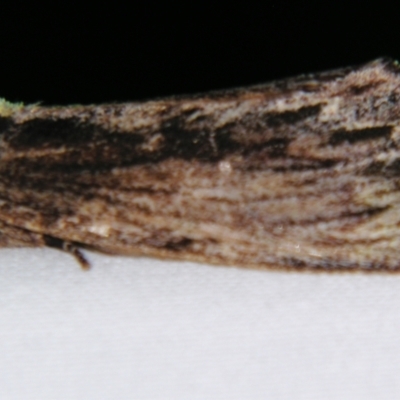
{"label": "plain white surface below the brown moth", "polygon": [[400,275],[0,251],[0,399],[394,399]]}

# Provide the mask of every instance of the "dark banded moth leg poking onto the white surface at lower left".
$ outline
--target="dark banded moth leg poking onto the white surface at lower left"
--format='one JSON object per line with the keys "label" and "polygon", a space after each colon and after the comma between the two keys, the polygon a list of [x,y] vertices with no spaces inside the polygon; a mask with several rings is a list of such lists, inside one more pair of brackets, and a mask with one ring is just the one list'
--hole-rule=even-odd
{"label": "dark banded moth leg poking onto the white surface at lower left", "polygon": [[71,242],[64,241],[49,235],[32,232],[0,221],[0,248],[1,247],[52,247],[70,253],[78,261],[82,269],[89,269],[90,264]]}

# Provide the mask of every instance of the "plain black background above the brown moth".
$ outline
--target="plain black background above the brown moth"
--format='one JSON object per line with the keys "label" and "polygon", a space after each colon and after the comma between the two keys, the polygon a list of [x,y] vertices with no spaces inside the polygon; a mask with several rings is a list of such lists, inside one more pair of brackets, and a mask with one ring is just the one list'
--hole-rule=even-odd
{"label": "plain black background above the brown moth", "polygon": [[4,2],[0,97],[133,101],[400,59],[400,4]]}

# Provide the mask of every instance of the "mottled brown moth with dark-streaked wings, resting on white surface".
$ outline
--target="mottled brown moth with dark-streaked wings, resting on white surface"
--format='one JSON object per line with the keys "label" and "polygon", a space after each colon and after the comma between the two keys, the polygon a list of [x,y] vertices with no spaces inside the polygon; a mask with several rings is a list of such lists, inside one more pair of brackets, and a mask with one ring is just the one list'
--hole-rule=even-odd
{"label": "mottled brown moth with dark-streaked wings, resting on white surface", "polygon": [[400,270],[400,67],[155,101],[0,103],[0,247]]}

